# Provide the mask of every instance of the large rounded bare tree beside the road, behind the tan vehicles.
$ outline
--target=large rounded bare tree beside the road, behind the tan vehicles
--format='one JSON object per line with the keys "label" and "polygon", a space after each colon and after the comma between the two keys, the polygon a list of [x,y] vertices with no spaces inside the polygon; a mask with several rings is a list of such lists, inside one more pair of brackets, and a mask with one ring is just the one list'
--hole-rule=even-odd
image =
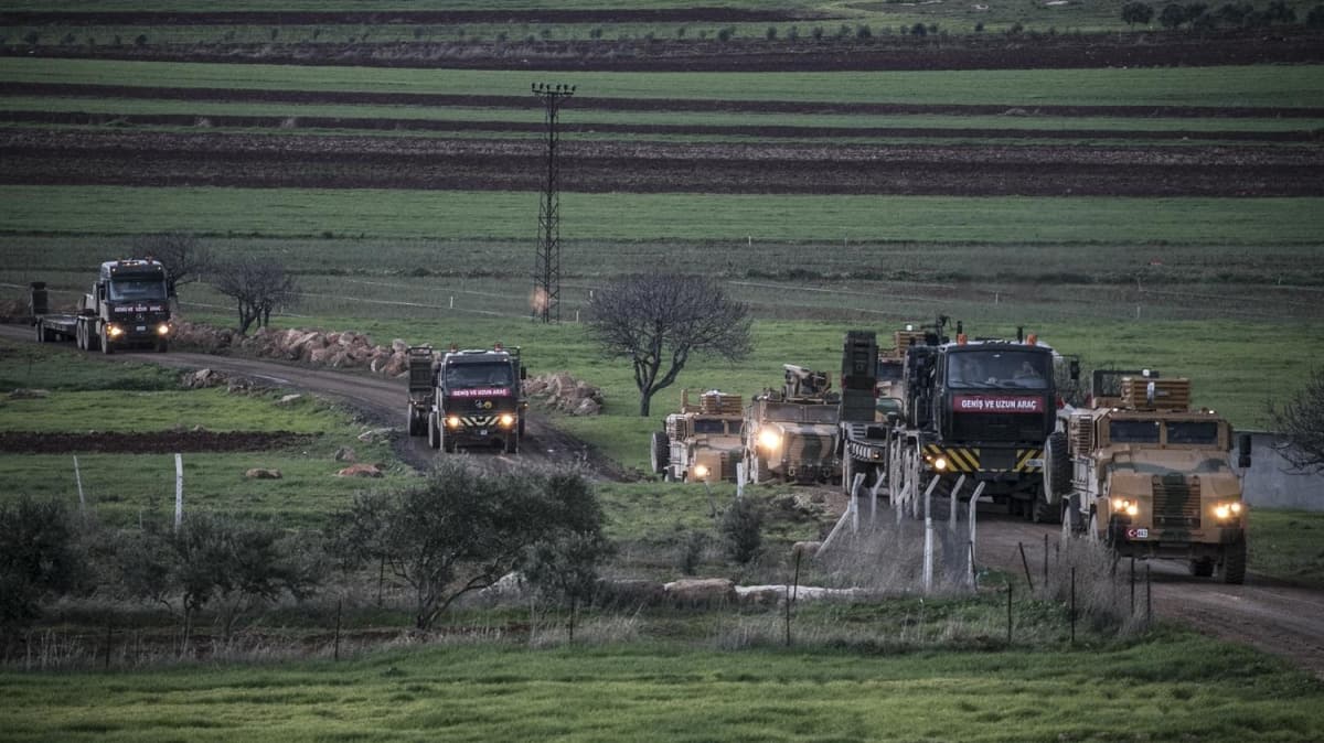
{"label": "large rounded bare tree beside the road, behind the tan vehicles", "polygon": [[589,301],[589,333],[609,356],[634,365],[639,415],[675,382],[691,354],[739,361],[749,354],[749,313],[716,280],[674,274],[637,275]]}

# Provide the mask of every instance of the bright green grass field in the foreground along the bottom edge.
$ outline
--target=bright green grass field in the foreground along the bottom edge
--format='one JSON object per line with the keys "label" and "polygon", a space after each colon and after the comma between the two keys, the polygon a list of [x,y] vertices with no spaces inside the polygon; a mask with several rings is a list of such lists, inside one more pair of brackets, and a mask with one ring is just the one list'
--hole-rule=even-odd
{"label": "bright green grass field in the foreground along the bottom edge", "polygon": [[1319,682],[1188,633],[906,656],[442,645],[332,664],[0,674],[0,740],[1311,740]]}

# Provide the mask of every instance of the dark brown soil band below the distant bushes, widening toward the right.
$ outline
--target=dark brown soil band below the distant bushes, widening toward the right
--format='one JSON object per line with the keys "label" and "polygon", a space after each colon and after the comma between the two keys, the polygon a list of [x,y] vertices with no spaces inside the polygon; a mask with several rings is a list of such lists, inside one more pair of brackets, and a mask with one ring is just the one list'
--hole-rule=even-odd
{"label": "dark brown soil band below the distant bushes, widening toward the right", "polygon": [[0,56],[258,62],[371,67],[528,71],[870,71],[1039,70],[1299,65],[1324,62],[1324,34],[1299,29],[1207,36],[981,34],[956,38],[780,42],[561,41],[495,44],[189,44],[144,46],[5,46]]}

